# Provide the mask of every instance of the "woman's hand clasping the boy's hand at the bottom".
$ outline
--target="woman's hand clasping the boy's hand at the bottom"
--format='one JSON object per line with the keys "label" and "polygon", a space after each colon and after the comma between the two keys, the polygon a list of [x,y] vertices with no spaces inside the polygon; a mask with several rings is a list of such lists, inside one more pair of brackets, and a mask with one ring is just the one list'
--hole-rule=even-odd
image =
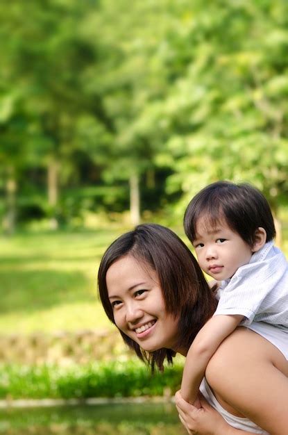
{"label": "woman's hand clasping the boy's hand at the bottom", "polygon": [[230,425],[204,399],[199,396],[201,408],[197,409],[186,402],[177,391],[175,395],[176,408],[179,418],[190,435],[223,435],[228,434]]}

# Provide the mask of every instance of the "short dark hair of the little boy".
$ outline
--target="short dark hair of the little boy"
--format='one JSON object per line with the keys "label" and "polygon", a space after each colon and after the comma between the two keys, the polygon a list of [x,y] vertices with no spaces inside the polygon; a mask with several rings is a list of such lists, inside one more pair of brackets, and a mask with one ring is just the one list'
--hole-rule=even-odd
{"label": "short dark hair of the little boy", "polygon": [[253,246],[258,227],[266,231],[266,242],[276,236],[271,208],[260,190],[248,183],[217,181],[206,186],[189,202],[184,215],[184,229],[191,242],[196,239],[196,226],[201,217],[207,227],[217,227],[225,220],[228,227]]}

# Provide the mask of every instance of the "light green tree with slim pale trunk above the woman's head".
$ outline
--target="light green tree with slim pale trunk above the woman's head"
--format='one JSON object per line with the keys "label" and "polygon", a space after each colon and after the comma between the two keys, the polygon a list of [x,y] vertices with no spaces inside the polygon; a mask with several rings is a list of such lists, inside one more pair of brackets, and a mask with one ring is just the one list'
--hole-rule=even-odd
{"label": "light green tree with slim pale trunk above the woman's head", "polygon": [[169,34],[175,30],[175,15],[183,4],[165,0],[157,3],[104,0],[100,13],[87,17],[87,37],[101,38],[105,51],[99,74],[90,76],[90,86],[103,92],[105,113],[112,120],[114,140],[107,152],[106,182],[124,180],[130,186],[130,215],[139,222],[143,181],[154,186],[155,156],[164,143],[149,131],[144,113],[151,101],[160,101],[173,81],[174,69],[163,65]]}

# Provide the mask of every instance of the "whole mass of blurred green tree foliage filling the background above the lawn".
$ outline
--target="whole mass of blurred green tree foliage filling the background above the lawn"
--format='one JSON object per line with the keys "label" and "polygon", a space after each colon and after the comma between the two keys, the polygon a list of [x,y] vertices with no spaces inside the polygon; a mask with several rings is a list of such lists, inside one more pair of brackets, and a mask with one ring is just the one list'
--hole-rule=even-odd
{"label": "whole mass of blurred green tree foliage filling the background above the lawn", "polygon": [[[125,211],[132,176],[142,211],[171,217],[217,179],[255,183],[274,211],[287,203],[287,1],[3,8],[2,215]],[[4,201],[9,177],[17,202]]]}

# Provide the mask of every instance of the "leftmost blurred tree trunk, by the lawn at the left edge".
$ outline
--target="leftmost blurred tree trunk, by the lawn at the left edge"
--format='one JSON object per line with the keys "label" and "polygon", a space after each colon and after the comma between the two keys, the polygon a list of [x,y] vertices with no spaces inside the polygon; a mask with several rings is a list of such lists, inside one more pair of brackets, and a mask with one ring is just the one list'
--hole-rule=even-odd
{"label": "leftmost blurred tree trunk, by the lawn at the left edge", "polygon": [[7,213],[3,220],[4,231],[8,234],[12,234],[15,231],[16,221],[16,190],[17,183],[15,179],[14,167],[8,167],[8,179],[6,183],[6,204]]}

